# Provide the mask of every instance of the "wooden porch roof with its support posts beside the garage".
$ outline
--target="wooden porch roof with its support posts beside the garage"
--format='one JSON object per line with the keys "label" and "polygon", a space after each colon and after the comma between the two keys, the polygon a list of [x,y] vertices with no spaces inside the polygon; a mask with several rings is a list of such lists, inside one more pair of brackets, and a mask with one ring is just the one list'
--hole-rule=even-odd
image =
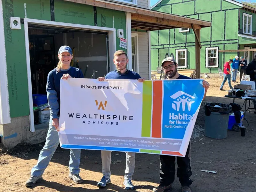
{"label": "wooden porch roof with its support posts beside the garage", "polygon": [[[162,13],[148,9],[142,9],[130,5],[118,4],[115,2],[107,2],[103,0],[64,0],[80,4],[87,4],[95,7],[112,9],[116,11],[126,12],[126,39],[128,59],[132,60],[132,30],[143,30],[148,32],[148,71],[149,79],[151,78],[151,59],[150,59],[150,31],[164,30],[173,28],[192,28],[195,34],[196,42],[196,78],[200,78],[200,29],[211,27],[211,22],[191,19],[169,13]],[[169,53],[168,53],[169,54]],[[128,68],[132,69],[132,65],[128,64]]]}

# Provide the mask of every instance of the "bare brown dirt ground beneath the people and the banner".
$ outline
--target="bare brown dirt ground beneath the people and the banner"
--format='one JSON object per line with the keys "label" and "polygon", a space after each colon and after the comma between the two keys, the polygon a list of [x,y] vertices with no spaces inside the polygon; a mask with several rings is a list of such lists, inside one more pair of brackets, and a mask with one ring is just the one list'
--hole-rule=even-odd
{"label": "bare brown dirt ground beneath the people and the banner", "polygon": [[[246,126],[245,137],[240,132],[228,131],[223,140],[214,140],[203,135],[204,132],[204,103],[209,101],[231,103],[232,99],[224,98],[227,91],[219,91],[221,81],[218,78],[207,79],[210,83],[207,97],[202,103],[192,135],[191,166],[194,181],[191,185],[193,192],[255,192],[256,191],[256,114],[253,110],[247,112],[250,123]],[[224,86],[228,90],[228,85]],[[243,100],[236,100],[243,105]],[[252,107],[252,105],[251,105]],[[100,151],[82,150],[80,176],[82,184],[74,184],[68,179],[69,150],[58,148],[52,161],[44,172],[43,181],[34,187],[27,188],[24,183],[30,176],[31,168],[36,164],[44,143],[36,145],[22,144],[4,154],[0,149],[0,191],[34,192],[34,191],[126,191],[123,186],[125,170],[125,153],[112,152],[112,161],[121,163],[111,164],[111,181],[104,189],[97,188],[101,179]],[[116,155],[118,154],[118,155]],[[151,154],[136,154],[136,167],[133,184],[136,191],[149,192],[159,182],[159,156]],[[216,174],[200,170],[217,171]],[[173,192],[180,191],[177,177],[173,183]]]}

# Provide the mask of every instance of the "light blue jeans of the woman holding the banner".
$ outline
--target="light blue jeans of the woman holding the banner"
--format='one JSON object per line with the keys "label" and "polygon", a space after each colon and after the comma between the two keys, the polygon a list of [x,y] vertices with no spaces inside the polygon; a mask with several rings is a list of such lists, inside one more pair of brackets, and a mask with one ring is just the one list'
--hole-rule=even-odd
{"label": "light blue jeans of the woman holding the banner", "polygon": [[[49,122],[49,129],[46,137],[46,142],[44,148],[41,150],[37,164],[31,170],[31,176],[41,176],[44,170],[50,163],[52,156],[60,143],[58,132],[52,125],[52,119]],[[69,172],[71,174],[77,174],[80,172],[80,149],[70,149],[70,159],[69,159]]]}

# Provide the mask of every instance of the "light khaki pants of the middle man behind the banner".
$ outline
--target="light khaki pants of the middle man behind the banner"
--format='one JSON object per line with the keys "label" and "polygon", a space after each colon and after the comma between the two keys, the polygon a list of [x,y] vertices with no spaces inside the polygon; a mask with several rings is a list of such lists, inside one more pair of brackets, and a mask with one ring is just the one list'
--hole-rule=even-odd
{"label": "light khaki pants of the middle man behind the banner", "polygon": [[[101,151],[101,161],[102,161],[102,173],[107,179],[111,176],[110,165],[111,165],[111,152],[112,151]],[[135,153],[126,153],[126,169],[124,172],[124,179],[132,180],[132,175],[135,169]]]}

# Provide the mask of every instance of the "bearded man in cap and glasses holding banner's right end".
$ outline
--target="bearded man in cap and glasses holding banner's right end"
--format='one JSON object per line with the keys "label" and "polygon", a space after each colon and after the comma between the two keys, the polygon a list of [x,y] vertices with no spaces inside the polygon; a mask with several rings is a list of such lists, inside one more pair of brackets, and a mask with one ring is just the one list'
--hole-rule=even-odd
{"label": "bearded man in cap and glasses holding banner's right end", "polygon": [[[180,75],[177,71],[178,64],[173,57],[167,57],[162,61],[162,68],[167,80],[173,79],[191,79],[190,77]],[[203,81],[203,87],[205,88],[204,97],[209,88],[209,83]],[[172,183],[175,179],[175,156],[159,155],[160,156],[160,185],[153,188],[153,192],[163,192],[172,189]],[[185,157],[177,156],[177,176],[181,184],[182,192],[191,192],[189,186],[192,184],[190,176],[192,175],[191,165],[191,145],[189,142],[188,149]]]}

